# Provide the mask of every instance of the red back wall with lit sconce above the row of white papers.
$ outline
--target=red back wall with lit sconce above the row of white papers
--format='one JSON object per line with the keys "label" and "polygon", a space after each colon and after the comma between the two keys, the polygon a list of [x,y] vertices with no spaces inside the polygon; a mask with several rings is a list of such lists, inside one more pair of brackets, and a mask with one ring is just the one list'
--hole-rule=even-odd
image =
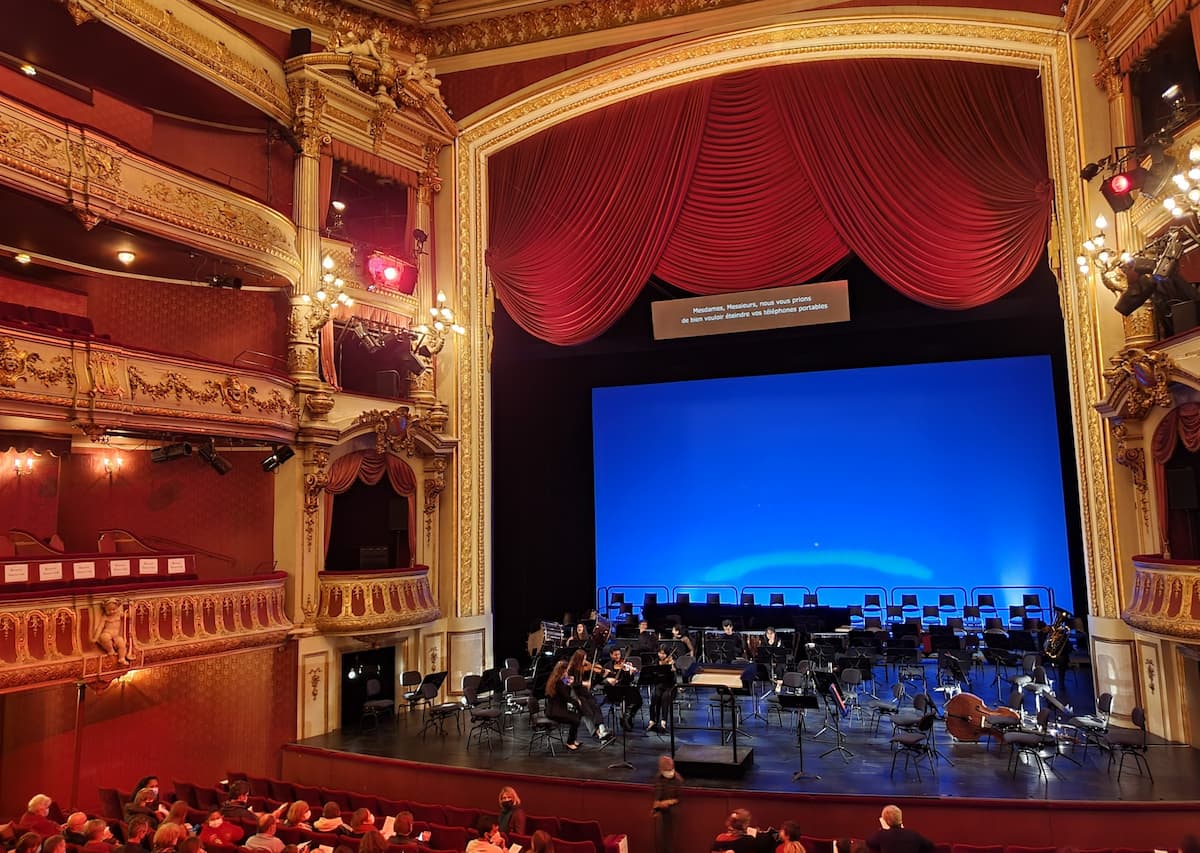
{"label": "red back wall with lit sconce above the row of white papers", "polygon": [[[157,446],[157,445],[151,445]],[[226,451],[233,470],[220,476],[194,453],[154,463],[150,447],[121,453],[112,481],[104,451],[74,452],[64,464],[59,533],[68,551],[92,551],[100,530],[122,528],[228,555],[198,554],[205,577],[250,575],[271,559],[275,479],[259,462],[266,451]]]}

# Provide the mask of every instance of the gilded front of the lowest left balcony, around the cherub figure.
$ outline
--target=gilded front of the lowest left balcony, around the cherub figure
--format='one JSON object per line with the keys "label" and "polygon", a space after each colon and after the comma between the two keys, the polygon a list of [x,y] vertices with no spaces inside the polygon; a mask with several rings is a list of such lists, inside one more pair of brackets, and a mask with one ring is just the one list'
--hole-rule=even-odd
{"label": "gilded front of the lowest left balcony, around the cherub figure", "polygon": [[[0,693],[68,681],[104,683],[132,667],[283,643],[287,576],[58,589],[0,599]],[[97,644],[101,607],[115,599],[131,663]]]}

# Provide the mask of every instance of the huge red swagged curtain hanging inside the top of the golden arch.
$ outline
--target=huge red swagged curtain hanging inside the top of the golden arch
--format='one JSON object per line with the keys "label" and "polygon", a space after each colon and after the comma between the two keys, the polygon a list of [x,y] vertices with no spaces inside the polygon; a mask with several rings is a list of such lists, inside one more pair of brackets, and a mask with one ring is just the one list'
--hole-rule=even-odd
{"label": "huge red swagged curtain hanging inside the top of the golden arch", "polygon": [[794,284],[850,252],[910,298],[970,308],[1033,270],[1050,224],[1034,72],[816,62],[654,92],[488,163],[497,295],[558,344],[649,276],[691,293]]}

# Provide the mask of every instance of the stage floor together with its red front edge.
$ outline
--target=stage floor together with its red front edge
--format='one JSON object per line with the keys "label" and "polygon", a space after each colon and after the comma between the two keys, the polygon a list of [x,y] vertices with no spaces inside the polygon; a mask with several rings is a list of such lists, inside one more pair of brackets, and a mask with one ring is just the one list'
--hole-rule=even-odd
{"label": "stage floor together with its red front edge", "polygon": [[[991,689],[992,692],[995,689]],[[1079,693],[1090,702],[1088,684],[1068,684],[1068,701]],[[1075,710],[1082,702],[1075,703]],[[749,705],[748,705],[749,709]],[[1081,765],[1058,757],[1040,776],[1033,764],[1009,770],[1006,747],[988,741],[953,743],[944,725],[935,727],[944,759],[937,771],[923,765],[920,777],[904,759],[890,775],[890,726],[880,734],[851,719],[845,727],[852,757],[826,752],[832,734],[814,738],[821,716],[809,711],[803,759],[808,777],[793,780],[800,768],[800,747],[794,727],[780,727],[774,716],[768,726],[758,719],[744,723],[751,735],[754,764],[739,780],[689,775],[684,807],[684,840],[691,849],[707,849],[727,812],[746,806],[760,825],[779,825],[799,819],[808,835],[863,836],[872,830],[886,801],[905,806],[914,828],[935,841],[964,843],[1019,843],[1080,848],[1130,847],[1176,848],[1184,834],[1195,831],[1200,799],[1200,752],[1189,746],[1151,738],[1150,764],[1153,780],[1139,774],[1132,759],[1117,780],[1116,768],[1106,770],[1108,757],[1092,747]],[[703,723],[707,699],[686,713],[688,721]],[[786,719],[786,717],[785,717]],[[653,847],[648,818],[648,783],[656,759],[670,750],[666,738],[630,734],[626,756],[632,769],[610,769],[622,761],[617,739],[606,749],[583,740],[577,752],[544,750],[528,753],[528,734],[522,721],[516,735],[506,732],[494,749],[472,743],[467,747],[468,720],[463,733],[454,722],[448,734],[420,737],[420,719],[384,721],[374,728],[356,728],[310,738],[284,747],[286,779],[316,785],[374,791],[430,803],[460,806],[494,805],[502,780],[511,780],[534,815],[598,817],[606,831],[624,831],[631,849]],[[581,734],[581,740],[582,740]],[[707,733],[684,733],[683,740],[714,743]],[[953,764],[952,764],[953,762]],[[680,847],[683,849],[683,847]]]}

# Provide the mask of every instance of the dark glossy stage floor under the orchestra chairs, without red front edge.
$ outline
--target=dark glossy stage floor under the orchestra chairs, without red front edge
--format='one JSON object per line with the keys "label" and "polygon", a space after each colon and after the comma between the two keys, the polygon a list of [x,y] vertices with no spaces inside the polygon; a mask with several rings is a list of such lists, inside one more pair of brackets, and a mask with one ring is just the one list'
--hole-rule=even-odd
{"label": "dark glossy stage floor under the orchestra chairs, without red front edge", "polygon": [[[976,684],[988,685],[991,678],[991,672],[988,669],[976,678]],[[1072,674],[1066,691],[1060,689],[1058,692],[1060,697],[1064,697],[1073,705],[1075,713],[1087,713],[1092,704],[1091,690],[1085,672],[1078,679],[1076,674]],[[995,705],[995,686],[979,686],[977,692],[985,702]],[[937,701],[941,704],[940,697]],[[703,726],[708,719],[707,708],[708,697],[702,693],[695,707],[684,711],[684,723]],[[749,701],[744,708],[749,714],[751,710]],[[822,756],[834,746],[832,731],[816,737],[823,717],[820,711],[808,713],[808,727],[803,737],[803,767],[808,776],[793,779],[802,762],[796,727],[779,726],[772,714],[770,725],[750,716],[743,722],[743,729],[749,737],[738,738],[739,751],[752,749],[754,763],[740,779],[720,779],[690,773],[689,787],[731,792],[796,792],[810,795],[826,793],[906,798],[1045,798],[1081,801],[1188,801],[1196,799],[1196,792],[1200,791],[1200,751],[1187,745],[1169,744],[1151,737],[1150,765],[1153,780],[1141,775],[1130,758],[1126,761],[1124,773],[1118,781],[1116,767],[1109,771],[1108,756],[1094,746],[1087,751],[1086,757],[1081,747],[1075,751],[1075,757],[1082,759],[1081,765],[1061,756],[1048,768],[1046,777],[1038,773],[1036,764],[1027,763],[1019,764],[1014,776],[1009,769],[1006,746],[992,743],[989,749],[988,740],[955,743],[946,733],[943,722],[935,725],[937,749],[944,757],[937,762],[937,771],[929,773],[928,764],[923,764],[918,779],[913,767],[905,769],[901,756],[893,776],[892,749],[888,743],[892,726],[886,719],[877,735],[872,734],[869,720],[859,721],[853,716],[845,720],[842,723],[845,746],[852,756],[844,757],[836,751]],[[530,756],[528,727],[524,720],[517,723],[515,735],[511,731],[506,731],[503,743],[497,743],[493,749],[488,749],[486,743],[479,746],[474,741],[468,749],[469,721],[466,714],[462,714],[461,719],[462,732],[456,731],[451,720],[446,725],[445,735],[434,732],[422,738],[420,717],[414,714],[409,720],[401,714],[395,723],[384,720],[366,731],[350,727],[299,743],[302,746],[353,755],[401,758],[496,773],[641,783],[654,775],[658,757],[670,752],[670,739],[647,733],[643,725],[637,732],[629,733],[625,743],[625,757],[632,764],[632,769],[610,768],[611,764],[623,759],[619,737],[606,749],[600,749],[599,741],[586,738],[583,729],[580,733],[582,746],[577,752],[556,746],[558,755],[550,758],[544,749],[538,747]],[[784,719],[785,722],[788,721],[787,716]],[[686,731],[677,734],[677,747],[686,744],[700,746],[716,743],[715,734],[709,732]]]}

